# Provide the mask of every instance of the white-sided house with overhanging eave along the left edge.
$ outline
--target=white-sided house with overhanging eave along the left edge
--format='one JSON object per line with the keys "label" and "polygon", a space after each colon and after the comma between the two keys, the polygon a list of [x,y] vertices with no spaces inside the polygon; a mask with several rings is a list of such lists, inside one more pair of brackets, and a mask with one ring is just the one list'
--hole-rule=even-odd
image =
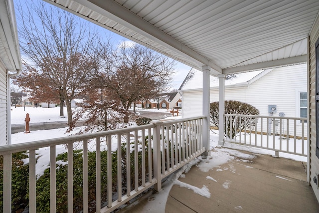
{"label": "white-sided house with overhanging eave along the left edge", "polygon": [[9,78],[21,67],[13,2],[0,0],[0,146],[11,140]]}

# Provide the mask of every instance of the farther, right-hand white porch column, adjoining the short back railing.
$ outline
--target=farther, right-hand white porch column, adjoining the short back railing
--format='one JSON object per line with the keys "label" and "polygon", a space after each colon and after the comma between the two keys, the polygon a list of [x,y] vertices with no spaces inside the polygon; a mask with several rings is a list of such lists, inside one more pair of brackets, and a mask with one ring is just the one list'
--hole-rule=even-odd
{"label": "farther, right-hand white porch column, adjoining the short back railing", "polygon": [[224,74],[218,75],[218,79],[219,79],[219,87],[218,87],[218,91],[219,91],[219,98],[218,98],[219,99],[218,145],[224,145],[225,78],[226,78],[226,75],[224,75]]}

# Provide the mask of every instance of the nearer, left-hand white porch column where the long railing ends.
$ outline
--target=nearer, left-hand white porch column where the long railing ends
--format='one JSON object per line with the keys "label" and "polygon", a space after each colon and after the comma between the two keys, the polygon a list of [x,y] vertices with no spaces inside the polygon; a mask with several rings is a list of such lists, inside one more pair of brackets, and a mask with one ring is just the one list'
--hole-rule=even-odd
{"label": "nearer, left-hand white porch column where the long railing ends", "polygon": [[203,123],[203,146],[206,149],[206,152],[203,153],[203,155],[209,156],[210,155],[210,148],[209,148],[210,67],[202,66],[201,69],[203,72],[203,116],[206,117]]}

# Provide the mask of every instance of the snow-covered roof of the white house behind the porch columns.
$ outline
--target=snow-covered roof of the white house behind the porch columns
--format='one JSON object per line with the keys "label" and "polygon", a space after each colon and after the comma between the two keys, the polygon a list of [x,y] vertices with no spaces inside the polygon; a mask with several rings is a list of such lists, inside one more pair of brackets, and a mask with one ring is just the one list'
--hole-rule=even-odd
{"label": "snow-covered roof of the white house behind the porch columns", "polygon": [[[227,75],[225,79],[225,87],[248,86],[262,76],[266,75],[273,69],[258,70],[252,72],[244,72],[238,74]],[[218,77],[210,76],[210,88],[218,88]],[[191,68],[185,80],[179,87],[179,91],[202,89],[203,74],[201,71]]]}

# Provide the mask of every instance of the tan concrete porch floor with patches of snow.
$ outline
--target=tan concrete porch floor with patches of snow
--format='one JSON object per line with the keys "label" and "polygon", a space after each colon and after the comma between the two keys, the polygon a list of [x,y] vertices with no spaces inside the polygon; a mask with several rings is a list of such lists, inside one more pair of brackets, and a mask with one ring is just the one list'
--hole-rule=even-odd
{"label": "tan concrete porch floor with patches of snow", "polygon": [[[218,151],[219,148],[215,148]],[[307,183],[306,163],[269,155],[253,154],[257,158],[241,157],[202,172],[193,166],[178,180],[191,186],[207,186],[210,198],[203,197],[178,185],[168,193],[164,209],[157,206],[154,193],[148,193],[138,204],[118,211],[130,213],[318,213],[319,203]],[[213,159],[212,159],[213,160]],[[304,165],[303,165],[304,164]],[[207,177],[211,177],[208,178]],[[152,202],[152,204],[150,204]]]}

